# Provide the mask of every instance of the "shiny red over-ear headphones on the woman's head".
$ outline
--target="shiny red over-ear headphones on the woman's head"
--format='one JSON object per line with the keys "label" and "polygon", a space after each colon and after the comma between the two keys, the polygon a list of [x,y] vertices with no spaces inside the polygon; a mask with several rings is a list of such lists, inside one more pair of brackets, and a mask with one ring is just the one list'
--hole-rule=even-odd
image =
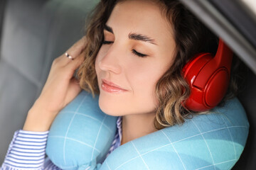
{"label": "shiny red over-ear headphones on the woman's head", "polygon": [[219,40],[215,57],[201,53],[183,67],[183,76],[188,81],[191,95],[185,107],[191,111],[207,111],[220,103],[228,90],[233,52]]}

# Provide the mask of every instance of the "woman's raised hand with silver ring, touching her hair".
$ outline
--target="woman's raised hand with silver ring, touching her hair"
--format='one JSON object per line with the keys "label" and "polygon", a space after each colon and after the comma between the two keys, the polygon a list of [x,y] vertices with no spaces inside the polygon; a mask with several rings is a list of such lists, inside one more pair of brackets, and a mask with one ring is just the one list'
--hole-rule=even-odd
{"label": "woman's raised hand with silver ring, touching her hair", "polygon": [[55,116],[78,96],[82,89],[73,74],[84,60],[85,45],[86,38],[83,37],[67,51],[73,60],[63,54],[53,61],[46,84],[28,111],[23,130],[49,130]]}

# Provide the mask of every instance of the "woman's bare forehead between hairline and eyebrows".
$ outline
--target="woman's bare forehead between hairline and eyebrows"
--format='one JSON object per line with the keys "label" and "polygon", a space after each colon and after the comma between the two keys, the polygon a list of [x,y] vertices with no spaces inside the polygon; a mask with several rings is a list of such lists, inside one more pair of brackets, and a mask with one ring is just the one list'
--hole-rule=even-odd
{"label": "woman's bare forehead between hairline and eyebrows", "polygon": [[166,17],[162,15],[160,6],[149,0],[119,2],[107,21],[107,25],[113,28],[114,34],[126,30],[153,36],[172,35],[169,24]]}

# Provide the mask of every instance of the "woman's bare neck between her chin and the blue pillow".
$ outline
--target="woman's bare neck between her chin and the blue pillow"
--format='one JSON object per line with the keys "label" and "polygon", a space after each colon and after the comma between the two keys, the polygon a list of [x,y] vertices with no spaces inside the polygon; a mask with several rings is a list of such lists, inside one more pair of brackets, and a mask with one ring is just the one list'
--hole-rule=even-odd
{"label": "woman's bare neck between her chin and the blue pillow", "polygon": [[154,128],[155,115],[156,113],[146,113],[122,116],[121,145],[157,131],[156,128]]}

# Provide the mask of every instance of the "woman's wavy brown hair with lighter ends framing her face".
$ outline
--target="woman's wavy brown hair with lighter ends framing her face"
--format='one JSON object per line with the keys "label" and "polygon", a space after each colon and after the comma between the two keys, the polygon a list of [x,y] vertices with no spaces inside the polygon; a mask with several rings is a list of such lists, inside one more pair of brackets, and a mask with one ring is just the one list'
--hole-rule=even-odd
{"label": "woman's wavy brown hair with lighter ends framing her face", "polygon": [[[81,88],[91,92],[92,95],[99,94],[95,59],[104,40],[105,23],[107,23],[114,6],[121,1],[129,0],[100,1],[92,11],[86,27],[85,61],[80,65],[77,77],[80,80]],[[218,38],[179,1],[148,1],[153,1],[161,8],[163,16],[169,21],[174,31],[176,42],[174,64],[159,79],[155,88],[159,106],[156,108],[154,126],[160,130],[171,125],[181,124],[185,118],[193,115],[182,105],[191,93],[186,80],[183,79],[182,68],[191,57],[199,52],[214,54],[218,47]]]}

